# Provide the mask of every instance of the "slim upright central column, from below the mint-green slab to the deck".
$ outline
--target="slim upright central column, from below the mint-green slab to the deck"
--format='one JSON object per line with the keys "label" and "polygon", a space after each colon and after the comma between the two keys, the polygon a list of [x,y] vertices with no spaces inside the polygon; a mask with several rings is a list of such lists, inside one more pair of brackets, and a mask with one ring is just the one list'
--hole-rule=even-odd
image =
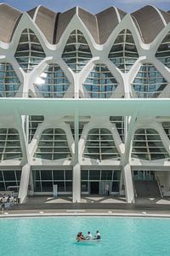
{"label": "slim upright central column, from below the mint-green slab to the deck", "polygon": [[73,165],[73,190],[72,190],[72,201],[81,202],[81,166],[79,163],[78,154],[78,141],[79,141],[79,116],[78,111],[75,111],[74,117],[74,131],[75,131],[75,154],[74,154],[74,165]]}

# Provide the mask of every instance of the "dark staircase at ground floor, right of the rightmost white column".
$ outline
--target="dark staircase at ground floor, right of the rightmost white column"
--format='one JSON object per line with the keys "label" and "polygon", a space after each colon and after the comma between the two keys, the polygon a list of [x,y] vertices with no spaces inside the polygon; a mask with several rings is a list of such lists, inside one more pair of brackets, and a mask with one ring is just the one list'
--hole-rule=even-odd
{"label": "dark staircase at ground floor, right of the rightmost white column", "polygon": [[134,181],[136,195],[138,197],[161,197],[157,181]]}

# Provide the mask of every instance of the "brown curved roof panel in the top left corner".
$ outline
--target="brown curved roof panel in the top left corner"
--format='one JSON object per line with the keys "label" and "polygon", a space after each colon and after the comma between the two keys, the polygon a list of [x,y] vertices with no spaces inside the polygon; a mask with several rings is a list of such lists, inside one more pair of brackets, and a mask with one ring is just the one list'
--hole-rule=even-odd
{"label": "brown curved roof panel in the top left corner", "polygon": [[5,3],[0,3],[0,41],[3,43],[11,41],[21,15],[19,10]]}

